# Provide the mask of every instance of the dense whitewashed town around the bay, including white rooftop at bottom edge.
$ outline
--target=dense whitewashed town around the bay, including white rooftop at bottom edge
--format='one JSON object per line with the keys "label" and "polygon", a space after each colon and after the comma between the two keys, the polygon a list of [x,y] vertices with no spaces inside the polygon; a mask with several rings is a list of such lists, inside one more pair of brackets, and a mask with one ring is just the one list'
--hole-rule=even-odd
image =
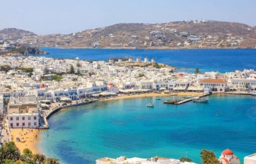
{"label": "dense whitewashed town around the bay, including white rooftop at bottom edge", "polygon": [[[101,99],[152,92],[253,95],[256,90],[254,70],[181,73],[148,57],[89,61],[0,56],[0,79],[1,142],[21,140],[11,136],[11,128],[49,128],[47,119],[54,112]],[[104,160],[96,163],[115,161]],[[120,160],[115,162],[127,161]]]}

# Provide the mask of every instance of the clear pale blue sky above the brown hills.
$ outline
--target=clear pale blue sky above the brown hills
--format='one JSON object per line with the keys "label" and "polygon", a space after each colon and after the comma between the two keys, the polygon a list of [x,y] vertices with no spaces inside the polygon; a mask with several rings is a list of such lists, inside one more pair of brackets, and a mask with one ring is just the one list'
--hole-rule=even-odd
{"label": "clear pale blue sky above the brown hills", "polygon": [[256,0],[0,0],[0,29],[69,34],[118,23],[210,19],[256,26]]}

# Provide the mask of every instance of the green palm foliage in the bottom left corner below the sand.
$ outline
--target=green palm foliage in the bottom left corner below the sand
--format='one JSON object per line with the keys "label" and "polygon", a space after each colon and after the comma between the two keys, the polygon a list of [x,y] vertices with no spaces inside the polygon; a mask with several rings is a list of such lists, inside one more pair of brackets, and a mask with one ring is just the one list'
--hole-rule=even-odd
{"label": "green palm foliage in the bottom left corner below the sand", "polygon": [[59,159],[46,158],[42,154],[32,154],[30,149],[20,153],[14,142],[6,142],[0,147],[0,163],[5,164],[59,164]]}

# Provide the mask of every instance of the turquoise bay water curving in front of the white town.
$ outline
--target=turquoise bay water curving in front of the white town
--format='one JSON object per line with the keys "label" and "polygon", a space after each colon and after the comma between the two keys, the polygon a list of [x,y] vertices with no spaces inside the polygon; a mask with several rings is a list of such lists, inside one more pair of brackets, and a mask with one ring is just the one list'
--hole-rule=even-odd
{"label": "turquoise bay water curving in front of the white town", "polygon": [[[256,150],[256,97],[210,96],[208,104],[163,104],[154,97],[96,102],[61,110],[40,133],[38,149],[62,163],[101,157],[179,159],[199,163],[201,149],[228,148],[243,161]],[[146,104],[153,102],[154,108]],[[47,136],[49,135],[49,136]]]}

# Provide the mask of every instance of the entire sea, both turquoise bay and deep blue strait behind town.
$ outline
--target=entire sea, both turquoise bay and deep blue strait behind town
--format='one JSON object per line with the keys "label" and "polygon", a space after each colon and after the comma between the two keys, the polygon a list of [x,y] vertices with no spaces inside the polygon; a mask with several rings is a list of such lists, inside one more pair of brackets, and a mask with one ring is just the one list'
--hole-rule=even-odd
{"label": "entire sea, both turquoise bay and deep blue strait behind town", "polygon": [[[105,50],[42,48],[54,58],[108,60],[125,56],[155,57],[182,71],[255,69],[256,50]],[[256,150],[256,97],[210,95],[207,104],[163,104],[177,97],[141,97],[98,101],[63,109],[49,118],[37,148],[61,163],[95,163],[102,157],[189,157],[201,163],[200,151],[219,157],[231,149],[241,161]],[[181,98],[181,97],[178,97]],[[154,108],[146,107],[153,103]]]}

